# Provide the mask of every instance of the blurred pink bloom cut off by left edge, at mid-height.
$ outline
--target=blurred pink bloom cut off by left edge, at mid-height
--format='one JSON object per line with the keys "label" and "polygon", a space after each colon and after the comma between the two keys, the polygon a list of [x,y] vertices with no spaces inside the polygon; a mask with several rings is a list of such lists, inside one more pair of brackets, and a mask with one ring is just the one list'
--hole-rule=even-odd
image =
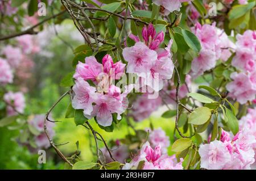
{"label": "blurred pink bloom cut off by left edge, at mid-height", "polygon": [[0,85],[5,85],[6,83],[13,83],[13,71],[7,60],[0,58]]}

